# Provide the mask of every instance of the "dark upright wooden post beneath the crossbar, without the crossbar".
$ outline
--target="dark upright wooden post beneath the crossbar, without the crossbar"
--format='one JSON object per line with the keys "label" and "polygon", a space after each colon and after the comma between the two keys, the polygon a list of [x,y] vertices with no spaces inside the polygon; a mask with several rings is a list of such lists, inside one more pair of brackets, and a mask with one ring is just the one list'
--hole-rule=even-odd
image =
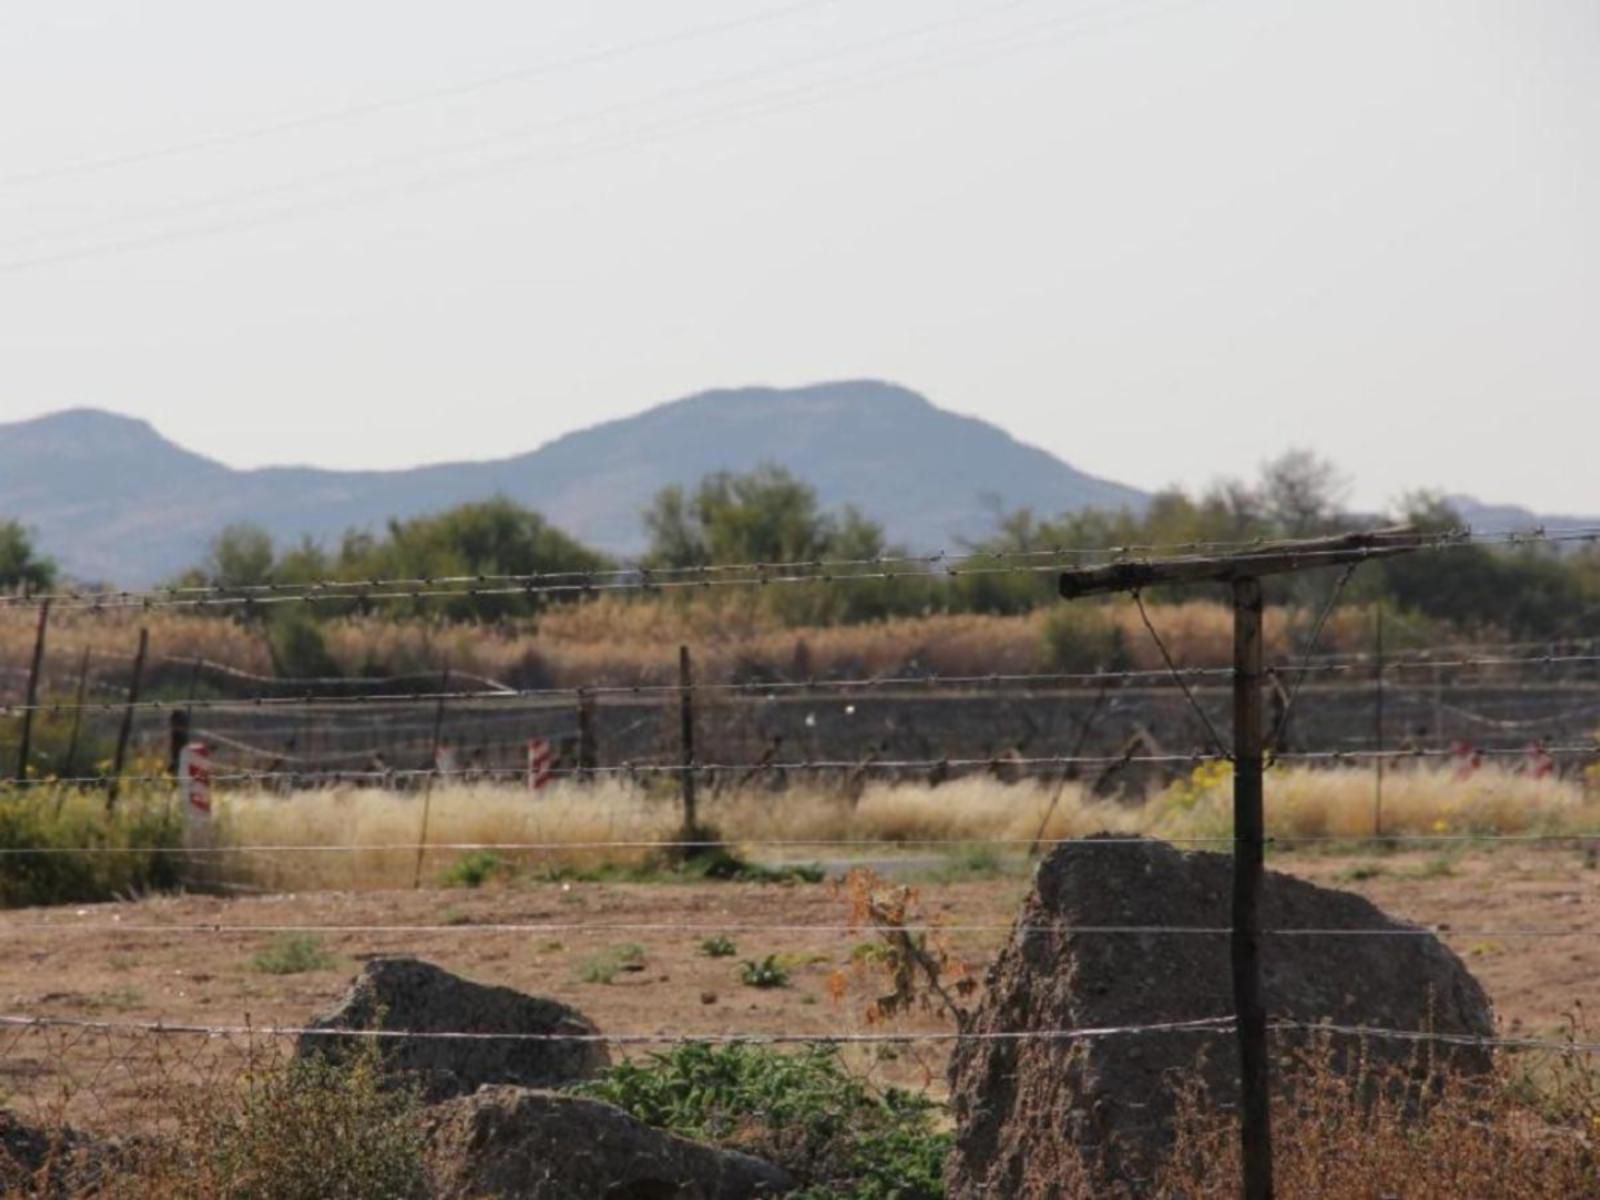
{"label": "dark upright wooden post beneath the crossbar, without the crossbar", "polygon": [[1261,579],[1234,581],[1234,1008],[1238,1018],[1240,1149],[1245,1200],[1272,1195],[1267,1006],[1261,995]]}

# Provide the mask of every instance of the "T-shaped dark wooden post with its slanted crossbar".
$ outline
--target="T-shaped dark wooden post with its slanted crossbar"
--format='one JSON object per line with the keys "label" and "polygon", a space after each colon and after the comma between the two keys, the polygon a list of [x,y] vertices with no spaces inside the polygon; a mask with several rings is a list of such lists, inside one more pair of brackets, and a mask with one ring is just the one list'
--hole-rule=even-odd
{"label": "T-shaped dark wooden post with its slanted crossbar", "polygon": [[1387,558],[1427,546],[1437,538],[1408,528],[1314,538],[1261,546],[1229,555],[1141,558],[1062,571],[1067,600],[1106,592],[1128,592],[1163,584],[1227,582],[1234,592],[1234,899],[1229,960],[1234,1014],[1238,1021],[1238,1091],[1242,1195],[1272,1197],[1270,1072],[1267,1010],[1261,989],[1261,886],[1266,874],[1266,813],[1262,805],[1262,629],[1261,578],[1317,566]]}

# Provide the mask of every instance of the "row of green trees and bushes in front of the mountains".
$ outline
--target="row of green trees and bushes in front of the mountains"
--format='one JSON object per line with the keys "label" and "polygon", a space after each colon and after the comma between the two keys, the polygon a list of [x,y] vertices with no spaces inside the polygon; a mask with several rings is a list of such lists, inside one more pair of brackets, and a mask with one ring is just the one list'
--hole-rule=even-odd
{"label": "row of green trees and bushes in front of the mountains", "polygon": [[[1306,451],[1266,464],[1254,482],[1224,480],[1200,493],[1168,488],[1144,510],[1085,509],[1040,515],[990,504],[992,531],[960,549],[995,555],[992,565],[1048,563],[1061,547],[1139,547],[1243,542],[1258,538],[1307,538],[1382,523],[1430,530],[1459,526],[1440,498],[1416,493],[1389,514],[1358,515],[1342,504],[1338,472]],[[682,570],[725,563],[846,562],[830,574],[878,576],[872,562],[904,557],[880,523],[854,507],[827,510],[816,490],[779,466],[717,472],[693,486],[662,488],[643,512],[646,552],[638,566]],[[1030,558],[1016,558],[1030,555]],[[973,566],[982,568],[978,560]],[[438,579],[445,576],[560,576],[579,581],[619,563],[541,514],[510,499],[459,504],[381,531],[352,530],[336,546],[309,538],[278,544],[251,523],[230,525],[205,558],[184,571],[179,586],[256,587],[317,579]],[[950,613],[1024,613],[1051,603],[1050,571],[986,571],[946,576],[904,563],[896,578],[771,587],[763,603],[787,624],[848,624],[891,616]],[[58,576],[18,522],[0,522],[0,587],[43,590]],[[1328,571],[1274,581],[1269,600],[1315,606],[1333,587]],[[1192,594],[1192,592],[1190,592]],[[413,598],[373,605],[394,616],[448,621],[518,619],[581,594],[520,594]],[[1176,597],[1155,597],[1176,598]],[[1600,614],[1600,550],[1594,546],[1466,546],[1366,565],[1349,581],[1344,598],[1386,603],[1397,613],[1448,622],[1472,635],[1514,638],[1578,637]],[[360,602],[318,605],[318,613],[355,611]]]}

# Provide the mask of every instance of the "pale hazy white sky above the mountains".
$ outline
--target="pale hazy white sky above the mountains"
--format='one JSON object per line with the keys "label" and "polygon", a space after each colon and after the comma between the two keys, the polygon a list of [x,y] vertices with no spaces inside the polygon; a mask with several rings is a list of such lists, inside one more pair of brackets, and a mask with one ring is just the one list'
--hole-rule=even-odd
{"label": "pale hazy white sky above the mountains", "polygon": [[1600,510],[1595,0],[10,0],[0,419],[507,454],[877,376]]}

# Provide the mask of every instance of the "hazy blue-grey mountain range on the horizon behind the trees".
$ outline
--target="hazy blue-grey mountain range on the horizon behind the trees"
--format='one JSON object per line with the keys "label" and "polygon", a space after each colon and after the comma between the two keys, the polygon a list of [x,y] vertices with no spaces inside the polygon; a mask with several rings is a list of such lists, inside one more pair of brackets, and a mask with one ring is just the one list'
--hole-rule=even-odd
{"label": "hazy blue-grey mountain range on the horizon behind the trees", "polygon": [[234,470],[144,421],[77,408],[0,424],[0,517],[16,517],[70,576],[144,586],[195,563],[229,522],[330,541],[462,501],[506,494],[613,554],[643,549],[640,514],[667,483],[779,462],[829,507],[854,504],[918,550],[987,533],[1006,507],[1142,507],[1086,475],[904,387],[701,392],[560,437],[515,458],[410,470]]}

